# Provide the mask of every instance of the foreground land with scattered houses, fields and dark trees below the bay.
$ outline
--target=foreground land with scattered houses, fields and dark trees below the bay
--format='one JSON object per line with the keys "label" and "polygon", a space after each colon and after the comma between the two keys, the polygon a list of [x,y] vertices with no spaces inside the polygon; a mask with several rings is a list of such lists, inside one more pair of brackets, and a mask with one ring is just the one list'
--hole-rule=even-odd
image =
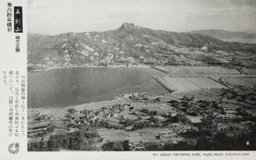
{"label": "foreground land with scattered houses, fields and dark trees below the bay", "polygon": [[[214,77],[218,81],[216,77],[219,76]],[[248,86],[250,83],[231,83],[223,77],[223,87],[184,91],[172,87],[170,94],[118,94],[112,101],[67,108],[31,108],[28,150],[219,150],[220,146],[223,150],[254,150],[254,79]],[[232,147],[223,144],[232,140],[237,141],[230,144]],[[248,146],[248,141],[253,145]]]}

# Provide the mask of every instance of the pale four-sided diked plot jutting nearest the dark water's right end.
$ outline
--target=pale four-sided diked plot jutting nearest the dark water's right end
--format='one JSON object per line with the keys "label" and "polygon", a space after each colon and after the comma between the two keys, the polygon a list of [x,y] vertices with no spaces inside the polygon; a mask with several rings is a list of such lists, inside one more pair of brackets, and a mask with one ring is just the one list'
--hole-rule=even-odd
{"label": "pale four-sided diked plot jutting nearest the dark water's right end", "polygon": [[161,76],[158,77],[160,82],[178,92],[182,91],[193,91],[200,89],[211,89],[211,88],[227,88],[208,77],[195,76],[195,77],[170,77]]}

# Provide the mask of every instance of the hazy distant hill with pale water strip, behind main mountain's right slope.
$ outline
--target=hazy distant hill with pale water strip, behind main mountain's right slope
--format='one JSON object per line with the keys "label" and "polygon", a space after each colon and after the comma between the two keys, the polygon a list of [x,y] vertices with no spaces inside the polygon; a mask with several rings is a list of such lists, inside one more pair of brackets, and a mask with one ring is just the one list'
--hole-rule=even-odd
{"label": "hazy distant hill with pale water strip, behind main mountain's right slope", "polygon": [[248,34],[246,32],[232,32],[228,30],[193,30],[189,33],[211,36],[224,41],[256,43],[256,34]]}

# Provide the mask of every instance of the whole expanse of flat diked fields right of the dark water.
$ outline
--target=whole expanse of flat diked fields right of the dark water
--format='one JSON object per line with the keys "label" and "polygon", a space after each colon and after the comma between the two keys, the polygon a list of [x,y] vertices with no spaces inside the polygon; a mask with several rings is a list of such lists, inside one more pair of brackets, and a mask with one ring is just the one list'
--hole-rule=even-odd
{"label": "whole expanse of flat diked fields right of the dark water", "polygon": [[225,68],[222,66],[154,66],[166,76],[153,76],[168,91],[186,92],[201,89],[252,87],[256,69]]}

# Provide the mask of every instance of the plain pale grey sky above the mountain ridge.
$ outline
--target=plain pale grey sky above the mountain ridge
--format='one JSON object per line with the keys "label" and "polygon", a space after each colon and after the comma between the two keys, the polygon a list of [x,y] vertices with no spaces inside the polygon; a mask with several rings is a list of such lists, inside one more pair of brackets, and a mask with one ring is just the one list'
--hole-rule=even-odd
{"label": "plain pale grey sky above the mountain ridge", "polygon": [[27,16],[32,34],[115,30],[122,23],[256,33],[256,0],[27,0]]}

